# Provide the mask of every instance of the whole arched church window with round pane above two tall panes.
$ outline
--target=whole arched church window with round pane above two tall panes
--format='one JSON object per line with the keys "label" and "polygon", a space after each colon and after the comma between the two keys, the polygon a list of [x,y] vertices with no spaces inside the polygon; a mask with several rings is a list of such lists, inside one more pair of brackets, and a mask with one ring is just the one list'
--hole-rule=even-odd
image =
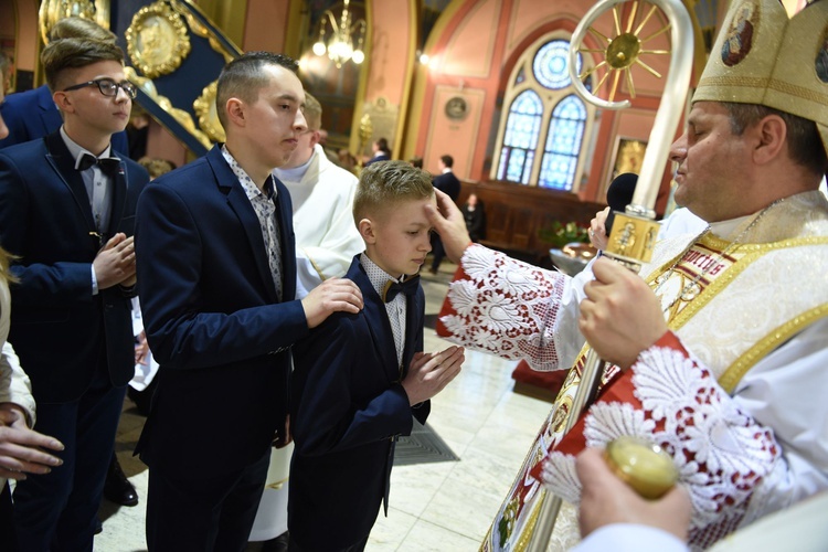
{"label": "whole arched church window with round pane above two tall panes", "polygon": [[[574,94],[569,49],[569,36],[556,32],[535,42],[516,64],[505,94],[508,115],[498,132],[492,178],[577,189],[595,109]],[[577,60],[580,70],[580,55]]]}

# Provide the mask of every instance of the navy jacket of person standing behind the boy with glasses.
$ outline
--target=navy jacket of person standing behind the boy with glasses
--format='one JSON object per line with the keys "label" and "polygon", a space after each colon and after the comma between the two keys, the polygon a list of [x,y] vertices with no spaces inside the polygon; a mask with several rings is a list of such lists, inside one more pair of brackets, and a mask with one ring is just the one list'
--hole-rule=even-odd
{"label": "navy jacket of person standing behind the boy with glasses", "polygon": [[[63,125],[61,112],[54,105],[52,92],[45,84],[33,91],[6,96],[6,102],[0,106],[0,115],[9,127],[9,136],[0,140],[0,149],[43,138]],[[129,157],[126,131],[114,134],[112,144],[115,151],[123,153],[121,157]]]}

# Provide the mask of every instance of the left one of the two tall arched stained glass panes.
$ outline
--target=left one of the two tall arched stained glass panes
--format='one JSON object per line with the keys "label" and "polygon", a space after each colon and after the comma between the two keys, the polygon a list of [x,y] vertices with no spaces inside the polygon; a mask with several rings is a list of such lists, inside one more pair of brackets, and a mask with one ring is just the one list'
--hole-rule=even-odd
{"label": "left one of the two tall arched stained glass panes", "polygon": [[506,121],[498,179],[529,183],[542,116],[543,103],[534,91],[523,91],[514,98]]}

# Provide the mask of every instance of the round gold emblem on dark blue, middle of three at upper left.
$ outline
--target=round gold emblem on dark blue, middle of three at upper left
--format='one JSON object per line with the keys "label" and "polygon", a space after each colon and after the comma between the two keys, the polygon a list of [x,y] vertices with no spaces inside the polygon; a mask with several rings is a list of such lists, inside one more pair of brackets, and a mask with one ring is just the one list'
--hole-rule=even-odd
{"label": "round gold emblem on dark blue, middle of three at upper left", "polygon": [[190,53],[187,25],[181,15],[161,1],[138,10],[126,39],[132,65],[148,78],[172,73]]}

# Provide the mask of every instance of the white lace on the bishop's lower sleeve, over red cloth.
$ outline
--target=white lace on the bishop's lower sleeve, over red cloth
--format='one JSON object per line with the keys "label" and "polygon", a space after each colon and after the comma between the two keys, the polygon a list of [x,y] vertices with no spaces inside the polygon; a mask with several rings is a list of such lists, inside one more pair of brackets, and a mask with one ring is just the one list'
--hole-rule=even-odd
{"label": "white lace on the bishop's lower sleeve, over red cloth", "polygon": [[[741,411],[710,372],[681,351],[652,347],[633,367],[630,404],[597,403],[585,420],[587,446],[604,446],[620,435],[645,436],[673,457],[693,503],[691,543],[707,548],[739,527],[754,488],[781,458],[769,428]],[[572,480],[574,458],[553,453],[543,482],[566,500],[580,501]]]}

